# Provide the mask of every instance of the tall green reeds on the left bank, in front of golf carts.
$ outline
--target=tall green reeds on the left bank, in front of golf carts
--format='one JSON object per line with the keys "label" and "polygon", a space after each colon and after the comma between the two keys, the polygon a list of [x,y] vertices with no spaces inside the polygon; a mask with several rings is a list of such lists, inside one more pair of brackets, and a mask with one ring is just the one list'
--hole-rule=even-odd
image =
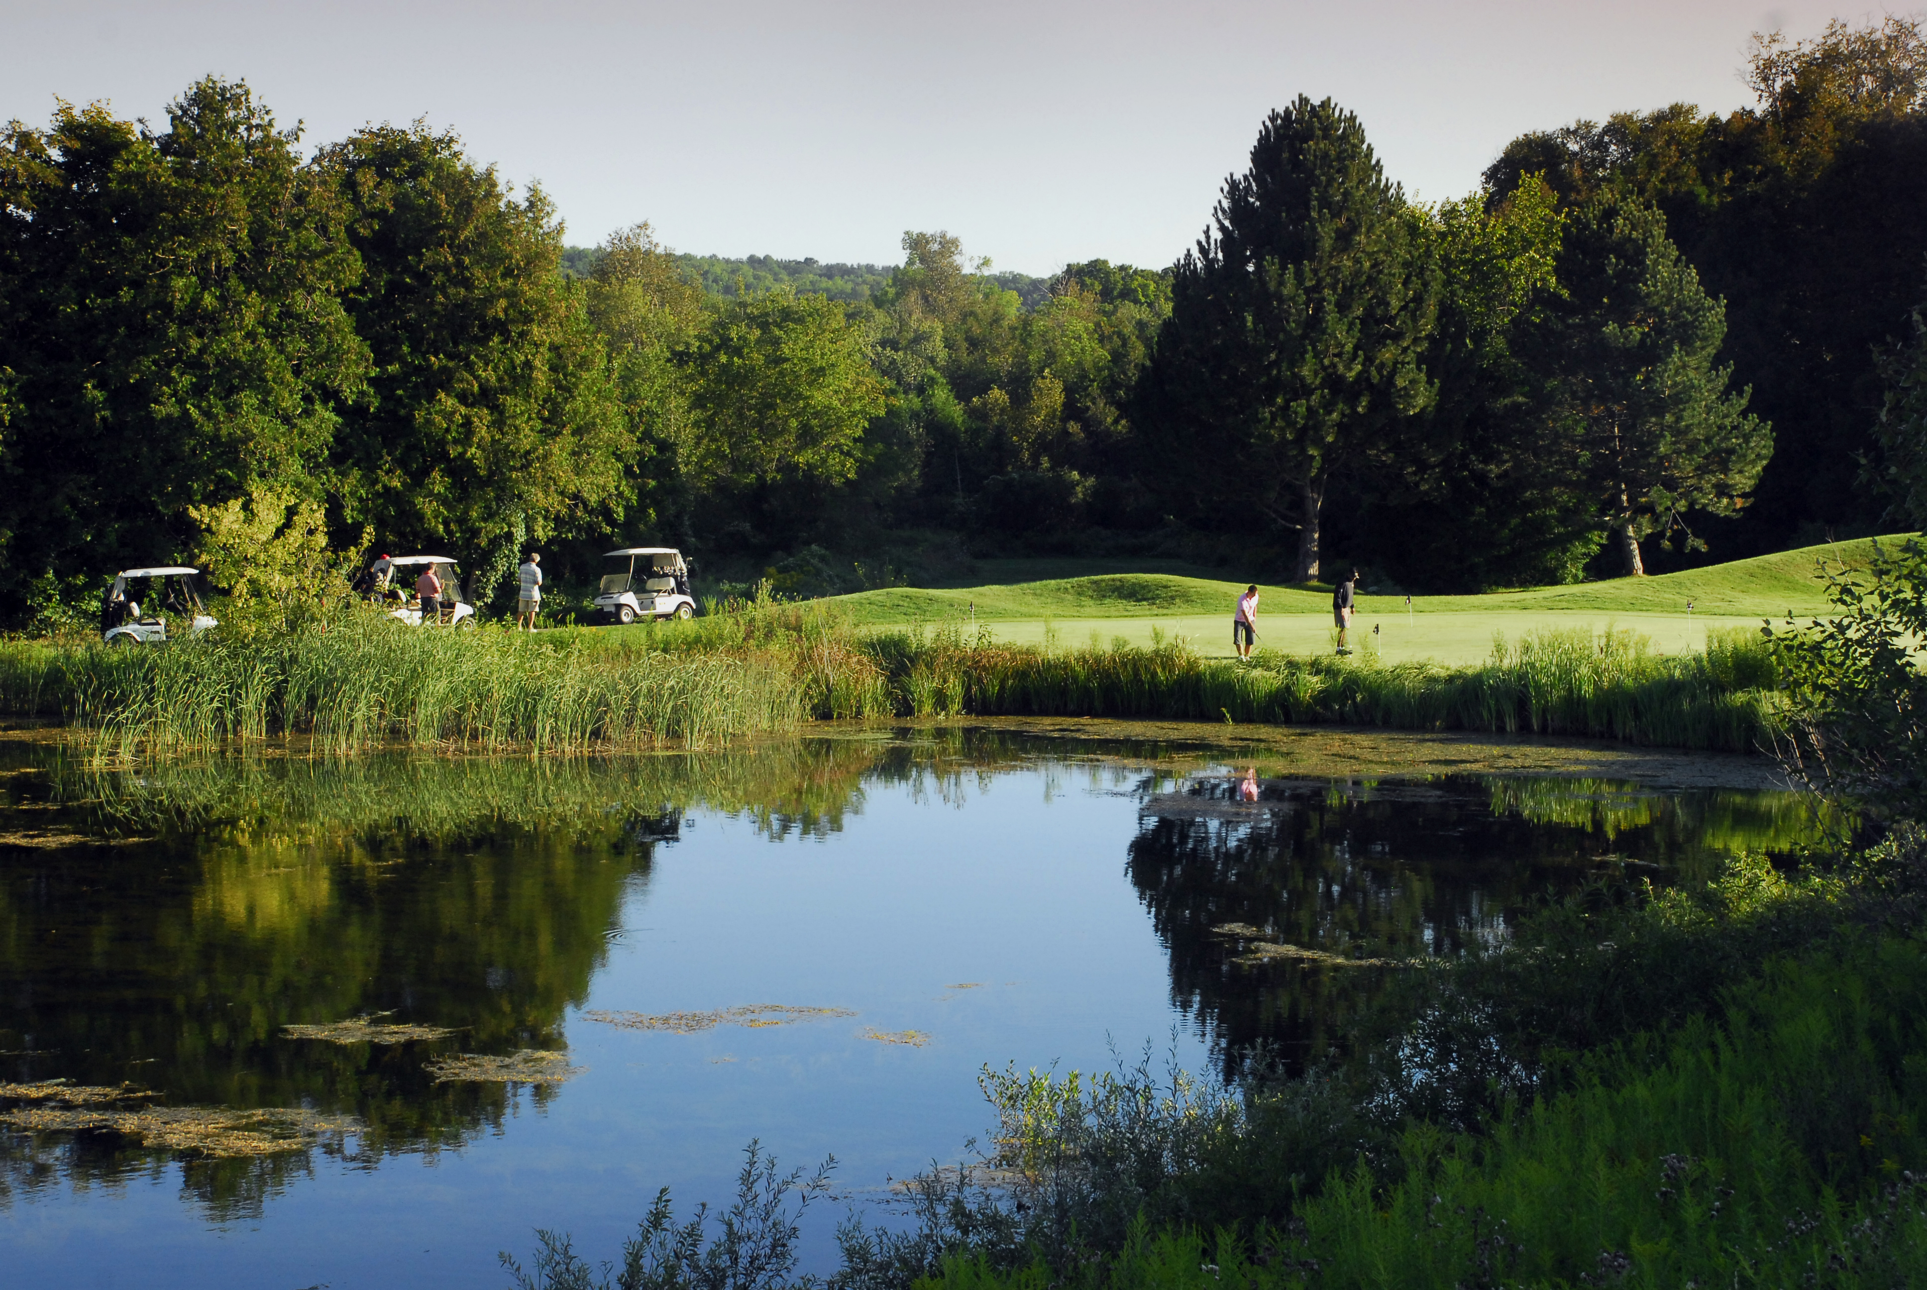
{"label": "tall green reeds on the left bank, in front of golf carts", "polygon": [[285,634],[0,656],[0,696],[13,712],[58,712],[118,754],[293,733],[331,752],[705,746],[794,729],[848,702],[819,698],[821,685],[767,650],[588,650],[568,636],[405,629],[358,609]]}

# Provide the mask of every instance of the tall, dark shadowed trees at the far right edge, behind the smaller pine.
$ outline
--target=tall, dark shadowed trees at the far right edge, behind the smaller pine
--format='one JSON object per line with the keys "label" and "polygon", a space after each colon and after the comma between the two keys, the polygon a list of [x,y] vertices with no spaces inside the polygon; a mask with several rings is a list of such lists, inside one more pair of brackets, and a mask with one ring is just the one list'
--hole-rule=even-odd
{"label": "tall, dark shadowed trees at the far right edge, behind the smaller pine", "polygon": [[1725,299],[1725,361],[1775,430],[1754,505],[1703,526],[1729,557],[1879,523],[1858,482],[1877,447],[1869,409],[1887,384],[1881,355],[1910,339],[1927,293],[1919,21],[1755,37],[1748,83],[1755,106],[1727,116],[1673,104],[1520,135],[1486,174],[1493,193],[1544,175],[1574,206],[1597,195],[1657,206]]}

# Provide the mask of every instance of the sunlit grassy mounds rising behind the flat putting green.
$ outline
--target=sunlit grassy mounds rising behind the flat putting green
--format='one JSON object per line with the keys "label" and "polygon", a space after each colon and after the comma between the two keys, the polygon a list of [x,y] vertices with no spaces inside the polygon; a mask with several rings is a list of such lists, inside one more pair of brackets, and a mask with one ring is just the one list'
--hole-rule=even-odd
{"label": "sunlit grassy mounds rising behind the flat putting green", "polygon": [[[1892,540],[1892,538],[1890,538]],[[1414,613],[1684,613],[1692,602],[1696,615],[1779,617],[1788,609],[1813,613],[1825,607],[1817,565],[1861,565],[1873,538],[1809,546],[1755,559],[1738,559],[1707,569],[1688,569],[1650,578],[1613,578],[1574,586],[1542,586],[1486,596],[1414,596]],[[1017,573],[1025,561],[998,561]],[[1046,565],[1046,561],[1039,561]],[[1048,565],[1041,569],[1048,573]],[[1031,619],[1145,619],[1145,617],[1231,617],[1243,582],[1187,577],[1179,573],[1100,573],[1089,577],[1041,577],[1037,580],[992,582],[985,586],[910,588],[836,596],[858,623],[933,623],[975,615],[977,621]],[[1332,611],[1332,588],[1260,586],[1264,615]],[[1360,596],[1362,615],[1405,613],[1403,596]]]}

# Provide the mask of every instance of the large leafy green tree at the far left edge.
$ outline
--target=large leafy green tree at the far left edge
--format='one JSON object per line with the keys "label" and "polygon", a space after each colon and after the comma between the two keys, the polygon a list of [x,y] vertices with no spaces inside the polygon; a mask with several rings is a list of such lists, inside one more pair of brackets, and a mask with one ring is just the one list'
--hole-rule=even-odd
{"label": "large leafy green tree at the far left edge", "polygon": [[162,129],[62,106],[0,139],[0,590],[187,553],[189,507],[318,497],[368,351],[345,208],[245,83]]}

